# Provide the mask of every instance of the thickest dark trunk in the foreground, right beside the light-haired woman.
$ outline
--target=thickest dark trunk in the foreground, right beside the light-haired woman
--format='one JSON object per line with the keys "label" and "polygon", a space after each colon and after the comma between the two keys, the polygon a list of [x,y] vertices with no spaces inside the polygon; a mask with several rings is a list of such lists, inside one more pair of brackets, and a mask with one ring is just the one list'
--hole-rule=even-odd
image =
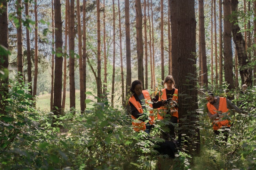
{"label": "thickest dark trunk in the foreground, right beside the light-haired woman", "polygon": [[[179,89],[179,138],[187,135],[189,144],[199,151],[200,134],[195,127],[196,110],[196,18],[194,0],[169,0],[172,31],[172,73]],[[182,94],[182,95],[181,95]],[[188,118],[185,120],[184,118]]]}

